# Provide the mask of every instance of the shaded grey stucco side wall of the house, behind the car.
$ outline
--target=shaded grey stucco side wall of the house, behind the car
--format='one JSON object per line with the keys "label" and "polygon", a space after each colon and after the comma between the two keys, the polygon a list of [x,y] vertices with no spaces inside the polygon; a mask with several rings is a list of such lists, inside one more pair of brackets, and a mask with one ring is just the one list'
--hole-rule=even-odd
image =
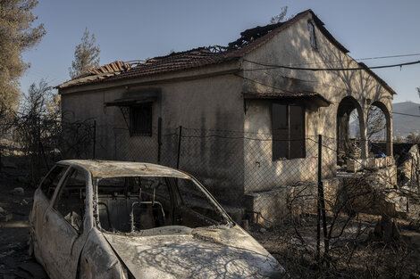
{"label": "shaded grey stucco side wall of the house, behind the car", "polygon": [[[134,82],[133,82],[134,84]],[[217,196],[243,193],[242,81],[234,75],[178,80],[159,86],[119,86],[62,94],[65,120],[97,120],[97,158],[157,162],[157,126],[162,118],[162,164],[176,167],[182,126],[180,168],[197,176]],[[118,107],[104,108],[123,95],[158,92],[153,135],[132,135]],[[233,132],[230,132],[233,133]],[[217,135],[217,136],[213,136]],[[205,159],[204,159],[205,158]],[[239,199],[238,199],[239,200]]]}

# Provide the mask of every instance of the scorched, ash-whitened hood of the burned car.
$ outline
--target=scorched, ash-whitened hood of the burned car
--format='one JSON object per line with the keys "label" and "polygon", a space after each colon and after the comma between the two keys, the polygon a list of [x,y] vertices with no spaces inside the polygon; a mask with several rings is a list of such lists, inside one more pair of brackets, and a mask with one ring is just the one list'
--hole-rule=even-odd
{"label": "scorched, ash-whitened hood of the burned car", "polygon": [[[148,231],[148,232],[147,232]],[[239,226],[104,233],[136,278],[280,278],[284,269]]]}

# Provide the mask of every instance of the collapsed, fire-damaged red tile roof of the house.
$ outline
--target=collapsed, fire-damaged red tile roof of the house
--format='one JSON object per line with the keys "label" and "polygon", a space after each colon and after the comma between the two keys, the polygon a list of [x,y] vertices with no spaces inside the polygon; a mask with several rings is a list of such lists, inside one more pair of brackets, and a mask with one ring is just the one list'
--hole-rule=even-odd
{"label": "collapsed, fire-damaged red tile roof of the house", "polygon": [[260,45],[264,45],[273,36],[280,33],[282,30],[287,29],[309,13],[312,14],[318,29],[323,32],[323,35],[328,37],[332,44],[339,47],[341,51],[348,53],[349,51],[343,45],[340,45],[340,43],[332,37],[330,32],[323,27],[323,22],[316,17],[315,13],[311,10],[307,10],[299,12],[289,21],[247,29],[240,33],[239,39],[231,42],[228,46],[198,47],[185,52],[170,53],[165,56],[149,59],[144,63],[137,63],[135,66],[132,66],[130,63],[113,62],[97,69],[88,70],[88,73],[64,82],[57,86],[57,88],[81,86],[123,78],[139,78],[236,60]]}

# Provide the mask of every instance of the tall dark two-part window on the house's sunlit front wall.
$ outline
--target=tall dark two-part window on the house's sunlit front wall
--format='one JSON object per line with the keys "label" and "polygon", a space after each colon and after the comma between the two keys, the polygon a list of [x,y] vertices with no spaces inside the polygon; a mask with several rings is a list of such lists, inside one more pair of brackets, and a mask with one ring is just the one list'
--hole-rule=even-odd
{"label": "tall dark two-part window on the house's sunlit front wall", "polygon": [[273,160],[305,158],[305,109],[273,103]]}

